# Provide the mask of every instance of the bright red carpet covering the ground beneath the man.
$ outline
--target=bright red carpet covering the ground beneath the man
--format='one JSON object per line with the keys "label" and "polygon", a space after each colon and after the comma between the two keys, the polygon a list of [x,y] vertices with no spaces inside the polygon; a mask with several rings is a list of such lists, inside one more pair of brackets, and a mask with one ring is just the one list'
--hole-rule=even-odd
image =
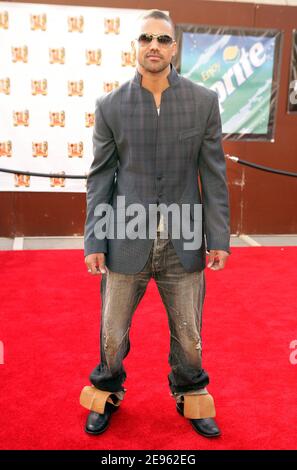
{"label": "bright red carpet covering the ground beneath the man", "polygon": [[108,431],[90,437],[78,400],[98,362],[99,278],[86,273],[82,251],[0,257],[1,449],[297,448],[296,247],[233,248],[225,271],[207,270],[203,359],[223,433],[216,440],[175,411],[153,281],[134,317],[125,400]]}

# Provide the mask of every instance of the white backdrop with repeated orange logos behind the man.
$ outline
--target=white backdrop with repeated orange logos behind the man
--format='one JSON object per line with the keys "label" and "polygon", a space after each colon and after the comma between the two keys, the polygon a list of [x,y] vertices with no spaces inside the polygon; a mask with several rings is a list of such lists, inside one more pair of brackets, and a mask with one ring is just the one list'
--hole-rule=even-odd
{"label": "white backdrop with repeated orange logos behind the man", "polygon": [[0,191],[86,190],[96,98],[135,73],[145,10],[0,2]]}

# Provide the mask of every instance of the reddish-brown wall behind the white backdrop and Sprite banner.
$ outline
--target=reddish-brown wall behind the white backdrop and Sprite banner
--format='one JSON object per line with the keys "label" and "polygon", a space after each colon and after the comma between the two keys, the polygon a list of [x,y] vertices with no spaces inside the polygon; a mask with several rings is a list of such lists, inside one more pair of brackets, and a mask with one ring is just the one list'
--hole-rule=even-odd
{"label": "reddish-brown wall behind the white backdrop and Sprite banner", "polygon": [[[29,3],[39,3],[30,0]],[[225,153],[297,172],[297,114],[286,113],[297,8],[187,0],[62,0],[45,3],[168,10],[175,23],[276,28],[284,32],[274,142],[224,142]],[[1,163],[1,160],[0,160]],[[297,233],[297,180],[227,161],[232,233]],[[83,234],[85,194],[0,192],[0,236]]]}

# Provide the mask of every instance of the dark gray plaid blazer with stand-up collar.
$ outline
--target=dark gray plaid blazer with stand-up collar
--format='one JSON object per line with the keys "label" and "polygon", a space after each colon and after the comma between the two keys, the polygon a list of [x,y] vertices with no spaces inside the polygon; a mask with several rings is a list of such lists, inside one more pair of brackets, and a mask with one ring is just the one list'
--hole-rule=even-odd
{"label": "dark gray plaid blazer with stand-up collar", "polygon": [[[185,250],[183,237],[172,238],[188,272],[205,268],[206,250],[230,252],[229,196],[218,96],[179,75],[172,64],[167,78],[170,86],[162,93],[160,115],[153,94],[141,86],[138,70],[133,79],[96,101],[84,248],[85,256],[106,253],[111,271],[141,271],[153,244],[152,237],[98,238],[98,230],[95,235],[95,207],[112,205],[116,225],[117,196],[125,196],[126,206],[140,203],[147,210],[149,204],[192,207],[202,203],[200,248]],[[194,218],[192,209],[191,214]],[[126,215],[121,223],[128,221]],[[168,231],[171,234],[169,221]]]}

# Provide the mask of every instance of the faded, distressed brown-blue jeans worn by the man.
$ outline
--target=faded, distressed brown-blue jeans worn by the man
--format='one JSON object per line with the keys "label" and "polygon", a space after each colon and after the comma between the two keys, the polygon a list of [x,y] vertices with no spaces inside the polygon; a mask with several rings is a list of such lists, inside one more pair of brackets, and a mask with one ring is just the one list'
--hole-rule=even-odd
{"label": "faded, distressed brown-blue jeans worn by the man", "polygon": [[[150,278],[156,281],[170,328],[171,366],[168,375],[172,396],[202,392],[209,377],[201,365],[201,326],[205,296],[204,271],[188,273],[168,237],[157,238],[144,269],[136,274],[109,272],[101,279],[101,362],[90,375],[101,390],[121,392],[126,372],[123,359],[130,350],[129,330],[133,313]],[[195,393],[195,394],[196,394]]]}

